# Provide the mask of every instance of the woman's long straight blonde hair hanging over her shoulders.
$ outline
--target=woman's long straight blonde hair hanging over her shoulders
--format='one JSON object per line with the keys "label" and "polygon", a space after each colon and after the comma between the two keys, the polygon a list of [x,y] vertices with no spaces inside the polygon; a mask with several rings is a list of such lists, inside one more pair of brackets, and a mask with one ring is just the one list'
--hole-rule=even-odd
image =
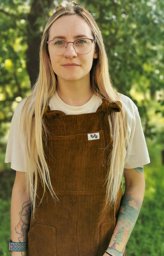
{"label": "woman's long straight blonde hair hanging over her shoulders", "polygon": [[[38,178],[41,180],[43,186],[43,196],[47,187],[51,195],[54,198],[56,197],[54,192],[55,188],[52,188],[50,182],[50,173],[43,148],[43,133],[46,133],[46,128],[43,123],[43,115],[48,104],[48,99],[54,93],[57,85],[56,75],[52,70],[48,58],[48,31],[53,22],[63,15],[80,15],[86,22],[88,22],[93,32],[98,53],[98,58],[93,61],[93,66],[90,71],[90,81],[94,93],[104,99],[108,99],[110,102],[120,100],[119,95],[112,88],[108,72],[108,59],[104,49],[101,31],[99,30],[97,23],[84,7],[75,2],[67,3],[65,7],[59,5],[56,7],[56,12],[49,18],[45,26],[40,46],[39,77],[31,95],[25,102],[21,116],[23,123],[23,138],[26,145],[27,192],[32,202],[33,211],[35,209],[35,198],[37,196]],[[123,176],[124,148],[127,134],[123,108],[119,113],[112,112],[111,117],[114,135],[112,155],[110,155],[106,161],[107,165],[110,166],[108,168],[110,169],[108,170],[108,176],[106,177],[106,205],[109,201],[115,202],[117,198],[117,192]]]}

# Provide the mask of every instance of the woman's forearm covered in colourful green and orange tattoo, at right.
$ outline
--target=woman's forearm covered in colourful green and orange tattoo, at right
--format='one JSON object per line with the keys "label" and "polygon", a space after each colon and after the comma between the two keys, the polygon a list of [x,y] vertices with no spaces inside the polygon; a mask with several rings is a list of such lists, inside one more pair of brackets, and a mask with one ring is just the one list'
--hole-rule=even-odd
{"label": "woman's forearm covered in colourful green and orange tattoo, at right", "polygon": [[[125,189],[114,234],[112,235],[107,249],[107,251],[114,256],[123,255],[127,241],[140,213],[144,191],[144,180],[136,185],[129,185],[127,189]],[[106,256],[107,254],[104,255]]]}

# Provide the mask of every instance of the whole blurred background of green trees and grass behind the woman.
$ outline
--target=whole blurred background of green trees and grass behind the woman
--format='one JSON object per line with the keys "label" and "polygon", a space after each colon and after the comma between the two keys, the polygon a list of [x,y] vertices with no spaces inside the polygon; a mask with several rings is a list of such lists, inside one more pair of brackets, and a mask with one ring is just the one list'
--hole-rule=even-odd
{"label": "whole blurred background of green trees and grass behind the woman", "polygon": [[[65,4],[67,1],[63,1]],[[128,256],[164,255],[164,1],[79,0],[104,38],[116,90],[138,106],[151,164]],[[0,0],[0,255],[8,256],[15,171],[4,163],[11,118],[35,84],[39,44],[58,0]],[[163,157],[162,157],[163,154]]]}

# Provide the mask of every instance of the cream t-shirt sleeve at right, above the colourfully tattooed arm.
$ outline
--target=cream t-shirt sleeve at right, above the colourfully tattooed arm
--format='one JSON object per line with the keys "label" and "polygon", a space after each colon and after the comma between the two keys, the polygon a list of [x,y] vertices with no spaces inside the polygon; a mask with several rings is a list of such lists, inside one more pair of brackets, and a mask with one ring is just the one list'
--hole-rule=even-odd
{"label": "cream t-shirt sleeve at right, above the colourfully tattooed arm", "polygon": [[145,142],[145,136],[143,134],[140,115],[136,105],[131,100],[130,104],[127,105],[126,112],[129,147],[125,149],[124,168],[131,169],[150,163],[150,159]]}

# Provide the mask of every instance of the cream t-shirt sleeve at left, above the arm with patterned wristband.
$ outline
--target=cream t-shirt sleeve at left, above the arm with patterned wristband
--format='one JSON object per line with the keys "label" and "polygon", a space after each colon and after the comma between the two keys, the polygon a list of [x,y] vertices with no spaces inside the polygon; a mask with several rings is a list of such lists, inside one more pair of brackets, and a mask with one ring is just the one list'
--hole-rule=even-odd
{"label": "cream t-shirt sleeve at left, above the arm with patterned wristband", "polygon": [[11,168],[16,171],[25,172],[24,144],[21,138],[20,116],[25,99],[19,103],[13,118],[7,141],[5,163],[11,163]]}

